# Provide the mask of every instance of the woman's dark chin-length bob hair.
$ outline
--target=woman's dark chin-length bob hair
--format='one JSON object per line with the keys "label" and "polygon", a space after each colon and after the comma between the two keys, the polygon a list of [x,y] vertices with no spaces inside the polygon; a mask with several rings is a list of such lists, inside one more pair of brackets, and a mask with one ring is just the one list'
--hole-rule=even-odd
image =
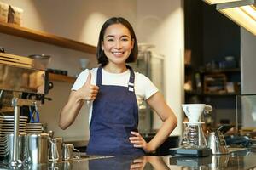
{"label": "woman's dark chin-length bob hair", "polygon": [[111,26],[113,24],[121,24],[130,31],[131,39],[133,39],[134,41],[134,47],[131,49],[131,54],[126,59],[126,63],[135,62],[138,54],[138,46],[137,46],[137,38],[135,36],[135,32],[131,24],[129,23],[128,20],[125,20],[122,17],[112,17],[102,25],[102,29],[100,31],[98,45],[97,45],[97,52],[96,52],[98,63],[101,64],[102,66],[105,66],[108,64],[108,58],[105,55],[104,51],[102,50],[102,41],[103,41],[106,29],[108,28],[108,26]]}

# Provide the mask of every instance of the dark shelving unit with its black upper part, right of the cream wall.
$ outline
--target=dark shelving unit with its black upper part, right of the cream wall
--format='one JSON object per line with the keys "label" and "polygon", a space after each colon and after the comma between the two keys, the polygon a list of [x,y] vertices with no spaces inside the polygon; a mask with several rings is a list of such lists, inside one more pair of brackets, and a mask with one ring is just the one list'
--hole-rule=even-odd
{"label": "dark shelving unit with its black upper part, right of the cream wall", "polygon": [[234,124],[241,91],[240,27],[201,0],[184,1],[184,9],[185,48],[191,51],[184,102],[212,105],[212,126]]}

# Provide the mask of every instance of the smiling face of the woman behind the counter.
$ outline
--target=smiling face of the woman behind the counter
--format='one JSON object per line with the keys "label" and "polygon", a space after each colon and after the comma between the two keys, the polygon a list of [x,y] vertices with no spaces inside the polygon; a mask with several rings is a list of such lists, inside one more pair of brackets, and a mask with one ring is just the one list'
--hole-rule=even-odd
{"label": "smiling face of the woman behind the counter", "polygon": [[108,62],[114,65],[125,65],[133,48],[134,41],[128,28],[122,24],[108,26],[105,31],[102,50],[108,58]]}

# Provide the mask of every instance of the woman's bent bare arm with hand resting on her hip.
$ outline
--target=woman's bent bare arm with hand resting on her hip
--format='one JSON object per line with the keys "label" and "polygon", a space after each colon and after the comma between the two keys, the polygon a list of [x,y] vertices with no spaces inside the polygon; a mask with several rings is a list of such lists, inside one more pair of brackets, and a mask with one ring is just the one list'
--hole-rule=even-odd
{"label": "woman's bent bare arm with hand resting on her hip", "polygon": [[153,152],[160,146],[160,144],[164,143],[177,126],[177,117],[172,109],[166,104],[164,97],[159,92],[147,99],[147,103],[160,116],[163,124],[155,134],[154,138],[148,143],[136,132],[131,132],[134,137],[130,137],[130,140],[131,144],[134,144],[134,147],[143,148],[146,152]]}

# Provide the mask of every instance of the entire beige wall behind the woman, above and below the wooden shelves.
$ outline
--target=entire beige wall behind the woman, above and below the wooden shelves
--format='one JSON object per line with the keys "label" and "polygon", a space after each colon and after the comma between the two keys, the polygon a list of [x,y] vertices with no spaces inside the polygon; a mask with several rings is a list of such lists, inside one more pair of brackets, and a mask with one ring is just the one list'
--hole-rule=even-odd
{"label": "entire beige wall behind the woman, above and below the wooden shelves", "polygon": [[[89,43],[96,46],[98,32],[102,23],[110,16],[123,16],[136,27],[139,42],[154,43],[156,52],[166,56],[166,99],[177,116],[181,116],[182,102],[182,61],[183,61],[183,11],[180,0],[163,3],[151,1],[125,0],[1,0],[4,3],[25,9],[22,26],[47,31],[61,37]],[[155,10],[156,5],[163,10]],[[145,20],[147,18],[156,19]],[[177,24],[178,23],[178,24]],[[155,25],[154,25],[155,24]],[[154,25],[153,27],[150,27]],[[145,34],[146,33],[146,34]],[[170,38],[166,38],[170,37]],[[74,76],[79,72],[79,58],[90,58],[89,67],[96,66],[95,56],[78,51],[59,48],[53,45],[34,42],[23,38],[0,34],[1,46],[10,54],[50,54],[53,59],[49,67],[63,69]],[[169,69],[167,69],[169,68]],[[67,82],[54,82],[55,88],[49,92],[53,101],[46,101],[41,107],[41,121],[48,122],[49,129],[56,136],[66,140],[88,139],[88,113],[86,106],[80,112],[74,124],[66,131],[58,126],[61,107],[67,101],[72,86]],[[181,118],[179,118],[180,120]],[[155,122],[159,127],[160,122]],[[177,130],[177,134],[181,133]]]}

